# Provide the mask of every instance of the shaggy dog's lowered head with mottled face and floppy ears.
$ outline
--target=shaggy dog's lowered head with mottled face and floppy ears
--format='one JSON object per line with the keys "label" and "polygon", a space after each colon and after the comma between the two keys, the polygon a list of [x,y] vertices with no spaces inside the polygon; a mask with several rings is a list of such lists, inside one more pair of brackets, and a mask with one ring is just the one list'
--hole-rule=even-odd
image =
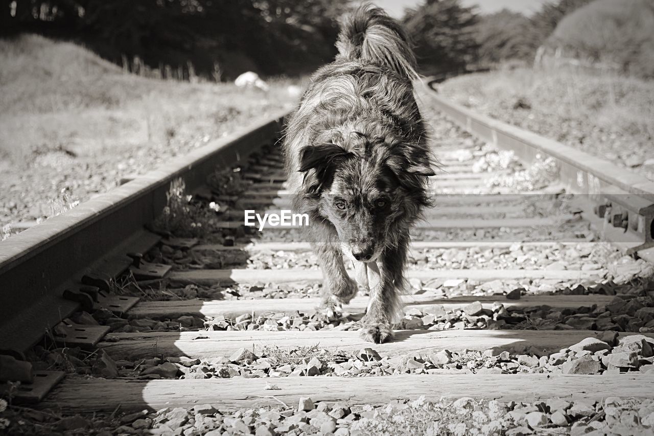
{"label": "shaggy dog's lowered head with mottled face and floppy ears", "polygon": [[343,253],[364,262],[398,243],[398,230],[430,203],[426,176],[434,175],[424,145],[356,131],[304,147],[300,172],[314,219],[328,219]]}

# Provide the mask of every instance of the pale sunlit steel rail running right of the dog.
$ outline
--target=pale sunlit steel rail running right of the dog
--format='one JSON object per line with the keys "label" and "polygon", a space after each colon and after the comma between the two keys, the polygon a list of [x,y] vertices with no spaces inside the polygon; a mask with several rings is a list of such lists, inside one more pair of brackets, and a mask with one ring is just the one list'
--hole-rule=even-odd
{"label": "pale sunlit steel rail running right of the dog", "polygon": [[[606,159],[475,113],[447,100],[438,94],[435,86],[438,81],[438,78],[426,79],[432,89],[428,97],[439,111],[473,136],[499,149],[515,152],[516,157],[526,165],[533,162],[538,154],[554,158],[559,166],[560,181],[570,192],[582,194],[585,200],[577,200],[577,204],[589,221],[596,221],[596,225],[605,229],[608,240],[630,246],[627,250],[630,253],[654,245],[653,181]],[[606,224],[609,226],[606,227]]]}

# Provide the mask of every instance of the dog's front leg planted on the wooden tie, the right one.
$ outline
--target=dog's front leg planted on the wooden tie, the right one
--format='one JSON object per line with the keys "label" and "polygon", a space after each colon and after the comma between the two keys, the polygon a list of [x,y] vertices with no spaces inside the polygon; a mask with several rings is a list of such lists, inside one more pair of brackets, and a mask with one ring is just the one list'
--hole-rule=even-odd
{"label": "dog's front leg planted on the wooden tie, the right one", "polygon": [[380,258],[380,280],[370,289],[370,302],[361,319],[360,336],[369,342],[381,344],[393,336],[391,324],[402,317],[401,289],[404,286],[404,264],[408,238],[402,238],[396,247],[385,249]]}

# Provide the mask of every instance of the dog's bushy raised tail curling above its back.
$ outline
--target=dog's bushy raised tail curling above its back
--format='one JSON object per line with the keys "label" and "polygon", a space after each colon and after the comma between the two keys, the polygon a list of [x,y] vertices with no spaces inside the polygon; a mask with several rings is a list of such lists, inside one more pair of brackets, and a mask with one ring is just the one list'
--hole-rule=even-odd
{"label": "dog's bushy raised tail curling above its back", "polygon": [[341,59],[383,65],[407,80],[419,77],[413,50],[400,23],[370,4],[361,5],[345,18],[336,47]]}

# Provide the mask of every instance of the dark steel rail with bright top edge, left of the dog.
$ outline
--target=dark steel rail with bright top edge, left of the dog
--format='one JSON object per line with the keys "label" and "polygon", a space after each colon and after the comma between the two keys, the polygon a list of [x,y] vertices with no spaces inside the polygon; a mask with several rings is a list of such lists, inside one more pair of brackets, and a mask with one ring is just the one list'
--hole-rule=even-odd
{"label": "dark steel rail with bright top edge, left of the dog", "polygon": [[120,274],[131,262],[127,253],[156,243],[144,226],[162,212],[171,181],[183,179],[189,191],[203,185],[215,168],[245,161],[275,141],[287,115],[280,111],[211,141],[0,242],[0,350],[24,352],[75,311],[78,302],[62,295],[81,286],[84,272],[103,263],[103,270]]}

